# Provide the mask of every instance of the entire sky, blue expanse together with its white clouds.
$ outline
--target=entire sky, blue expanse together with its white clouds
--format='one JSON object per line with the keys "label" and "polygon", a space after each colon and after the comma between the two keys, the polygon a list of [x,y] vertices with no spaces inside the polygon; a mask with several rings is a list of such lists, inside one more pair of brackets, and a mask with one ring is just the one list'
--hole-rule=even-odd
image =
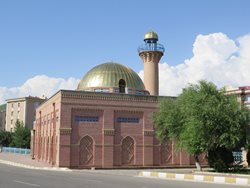
{"label": "entire sky, blue expanse together with its white clouds", "polygon": [[0,104],[75,89],[88,70],[111,60],[143,77],[137,47],[150,30],[166,49],[161,94],[176,95],[198,79],[250,85],[242,73],[250,69],[249,7],[249,0],[2,0]]}

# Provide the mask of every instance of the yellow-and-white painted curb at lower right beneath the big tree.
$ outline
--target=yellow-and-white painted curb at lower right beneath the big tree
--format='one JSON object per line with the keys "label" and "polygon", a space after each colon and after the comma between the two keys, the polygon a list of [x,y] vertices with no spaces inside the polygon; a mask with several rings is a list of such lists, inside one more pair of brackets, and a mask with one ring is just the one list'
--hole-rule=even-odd
{"label": "yellow-and-white painted curb at lower right beneath the big tree", "polygon": [[223,183],[223,184],[231,184],[231,185],[250,186],[250,178],[239,178],[239,177],[176,174],[176,173],[147,172],[147,171],[140,172],[139,176],[161,178],[161,179],[168,179],[168,180],[185,180],[185,181],[197,181],[197,182],[207,182],[207,183]]}

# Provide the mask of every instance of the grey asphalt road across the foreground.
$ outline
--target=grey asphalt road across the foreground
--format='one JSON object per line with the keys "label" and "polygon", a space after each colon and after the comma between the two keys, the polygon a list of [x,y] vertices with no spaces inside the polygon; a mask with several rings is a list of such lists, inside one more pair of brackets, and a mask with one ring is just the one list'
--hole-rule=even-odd
{"label": "grey asphalt road across the foreground", "polygon": [[98,171],[30,170],[0,164],[0,188],[236,188],[185,181],[168,181],[125,175],[110,175]]}

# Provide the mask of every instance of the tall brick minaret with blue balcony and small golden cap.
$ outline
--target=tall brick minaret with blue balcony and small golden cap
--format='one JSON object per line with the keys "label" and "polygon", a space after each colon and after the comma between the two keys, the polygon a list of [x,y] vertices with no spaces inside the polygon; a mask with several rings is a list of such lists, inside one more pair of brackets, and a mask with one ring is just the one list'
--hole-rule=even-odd
{"label": "tall brick minaret with blue balcony and small golden cap", "polygon": [[164,46],[157,43],[157,33],[150,31],[144,36],[144,44],[138,48],[139,56],[144,63],[144,85],[150,95],[159,95],[158,63],[164,54]]}

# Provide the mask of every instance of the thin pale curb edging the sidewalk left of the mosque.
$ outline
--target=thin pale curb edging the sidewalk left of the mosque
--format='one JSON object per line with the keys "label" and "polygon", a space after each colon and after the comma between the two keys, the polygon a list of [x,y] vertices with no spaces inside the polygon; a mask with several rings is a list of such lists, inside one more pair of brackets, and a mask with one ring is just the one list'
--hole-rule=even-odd
{"label": "thin pale curb edging the sidewalk left of the mosque", "polygon": [[69,171],[69,172],[72,171],[68,168],[36,167],[36,166],[31,166],[31,165],[25,165],[22,163],[15,163],[15,162],[11,162],[11,161],[6,161],[6,160],[2,160],[2,159],[0,159],[0,163],[11,165],[11,166],[16,166],[16,167],[21,167],[21,168],[34,169],[34,170],[54,170],[54,171]]}

